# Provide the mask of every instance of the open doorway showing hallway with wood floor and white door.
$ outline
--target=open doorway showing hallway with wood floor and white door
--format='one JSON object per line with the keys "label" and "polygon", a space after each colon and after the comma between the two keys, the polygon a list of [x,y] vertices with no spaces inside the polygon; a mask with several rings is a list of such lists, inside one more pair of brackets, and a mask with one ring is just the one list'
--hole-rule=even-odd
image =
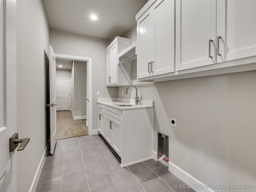
{"label": "open doorway showing hallway with wood floor and white door", "polygon": [[56,139],[88,135],[87,63],[56,58]]}

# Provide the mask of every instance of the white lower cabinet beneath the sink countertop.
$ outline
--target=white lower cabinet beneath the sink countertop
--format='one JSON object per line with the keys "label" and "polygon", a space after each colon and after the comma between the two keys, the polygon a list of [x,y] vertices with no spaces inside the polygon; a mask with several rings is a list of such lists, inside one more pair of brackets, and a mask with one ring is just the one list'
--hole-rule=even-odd
{"label": "white lower cabinet beneath the sink countertop", "polygon": [[154,108],[118,110],[98,104],[98,132],[128,166],[152,158]]}

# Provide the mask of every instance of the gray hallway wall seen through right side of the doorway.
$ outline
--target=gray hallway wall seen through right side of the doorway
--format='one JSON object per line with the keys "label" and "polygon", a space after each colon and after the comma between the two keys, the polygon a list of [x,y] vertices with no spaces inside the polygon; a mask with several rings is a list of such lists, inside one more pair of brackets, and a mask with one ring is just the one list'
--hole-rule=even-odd
{"label": "gray hallway wall seen through right side of the doorway", "polygon": [[86,62],[74,61],[74,116],[86,116]]}

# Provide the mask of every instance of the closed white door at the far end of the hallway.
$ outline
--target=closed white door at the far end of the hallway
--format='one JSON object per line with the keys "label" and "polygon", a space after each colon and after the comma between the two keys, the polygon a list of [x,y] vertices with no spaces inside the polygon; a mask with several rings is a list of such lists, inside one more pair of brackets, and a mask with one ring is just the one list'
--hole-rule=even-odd
{"label": "closed white door at the far end of the hallway", "polygon": [[70,110],[70,79],[56,78],[57,111]]}

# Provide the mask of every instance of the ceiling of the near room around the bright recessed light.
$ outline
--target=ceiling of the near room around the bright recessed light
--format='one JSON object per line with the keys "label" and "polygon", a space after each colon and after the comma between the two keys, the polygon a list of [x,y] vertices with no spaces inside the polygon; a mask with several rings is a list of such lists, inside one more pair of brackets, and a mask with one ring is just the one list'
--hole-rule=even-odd
{"label": "ceiling of the near room around the bright recessed light", "polygon": [[[148,0],[43,0],[50,28],[113,40],[136,25]],[[95,14],[98,20],[91,20]]]}

